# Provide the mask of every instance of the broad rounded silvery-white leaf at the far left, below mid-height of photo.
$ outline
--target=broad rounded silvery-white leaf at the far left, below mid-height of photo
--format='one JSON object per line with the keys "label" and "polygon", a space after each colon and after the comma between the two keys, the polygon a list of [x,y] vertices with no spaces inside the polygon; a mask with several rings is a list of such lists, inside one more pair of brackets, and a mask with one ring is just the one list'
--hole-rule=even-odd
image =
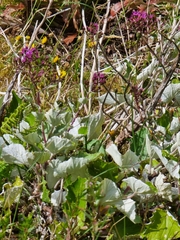
{"label": "broad rounded silvery-white leaf at the far left, below mid-height of photo", "polygon": [[10,144],[2,149],[2,158],[11,164],[28,165],[29,152],[21,144]]}

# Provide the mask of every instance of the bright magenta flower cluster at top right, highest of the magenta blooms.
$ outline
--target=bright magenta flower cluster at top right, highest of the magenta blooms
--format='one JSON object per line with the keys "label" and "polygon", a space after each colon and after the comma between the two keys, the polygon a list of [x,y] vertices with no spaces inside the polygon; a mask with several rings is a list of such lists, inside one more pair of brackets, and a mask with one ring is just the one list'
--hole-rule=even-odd
{"label": "bright magenta flower cluster at top right, highest of the magenta blooms", "polygon": [[147,27],[152,28],[155,17],[146,11],[133,10],[129,18],[130,29],[139,32],[146,32]]}

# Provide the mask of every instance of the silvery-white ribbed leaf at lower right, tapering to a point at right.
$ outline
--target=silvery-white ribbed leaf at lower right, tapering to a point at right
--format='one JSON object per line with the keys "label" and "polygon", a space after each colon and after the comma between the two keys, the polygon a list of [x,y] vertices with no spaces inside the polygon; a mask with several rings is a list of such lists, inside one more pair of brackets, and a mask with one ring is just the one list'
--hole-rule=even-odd
{"label": "silvery-white ribbed leaf at lower right, tapering to a point at right", "polygon": [[139,179],[136,179],[135,177],[128,177],[126,179],[123,179],[123,182],[127,183],[127,185],[132,189],[134,194],[152,193],[150,187],[147,184],[145,184]]}

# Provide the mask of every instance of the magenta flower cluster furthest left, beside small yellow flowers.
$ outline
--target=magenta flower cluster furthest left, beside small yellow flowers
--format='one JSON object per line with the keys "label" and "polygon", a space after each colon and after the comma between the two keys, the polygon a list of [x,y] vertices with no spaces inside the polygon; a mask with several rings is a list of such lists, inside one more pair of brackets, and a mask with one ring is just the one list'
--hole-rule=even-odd
{"label": "magenta flower cluster furthest left, beside small yellow flowers", "polygon": [[24,47],[21,51],[21,62],[22,63],[30,63],[33,60],[39,58],[39,53],[36,48],[28,48]]}

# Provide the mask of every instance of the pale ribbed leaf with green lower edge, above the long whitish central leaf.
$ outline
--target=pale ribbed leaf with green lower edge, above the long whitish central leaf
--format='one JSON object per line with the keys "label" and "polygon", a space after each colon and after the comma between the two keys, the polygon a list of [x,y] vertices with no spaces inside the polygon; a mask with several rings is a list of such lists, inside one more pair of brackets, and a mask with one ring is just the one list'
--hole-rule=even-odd
{"label": "pale ribbed leaf with green lower edge, above the long whitish central leaf", "polygon": [[46,148],[53,154],[68,153],[76,148],[77,143],[67,138],[53,136],[46,144]]}

